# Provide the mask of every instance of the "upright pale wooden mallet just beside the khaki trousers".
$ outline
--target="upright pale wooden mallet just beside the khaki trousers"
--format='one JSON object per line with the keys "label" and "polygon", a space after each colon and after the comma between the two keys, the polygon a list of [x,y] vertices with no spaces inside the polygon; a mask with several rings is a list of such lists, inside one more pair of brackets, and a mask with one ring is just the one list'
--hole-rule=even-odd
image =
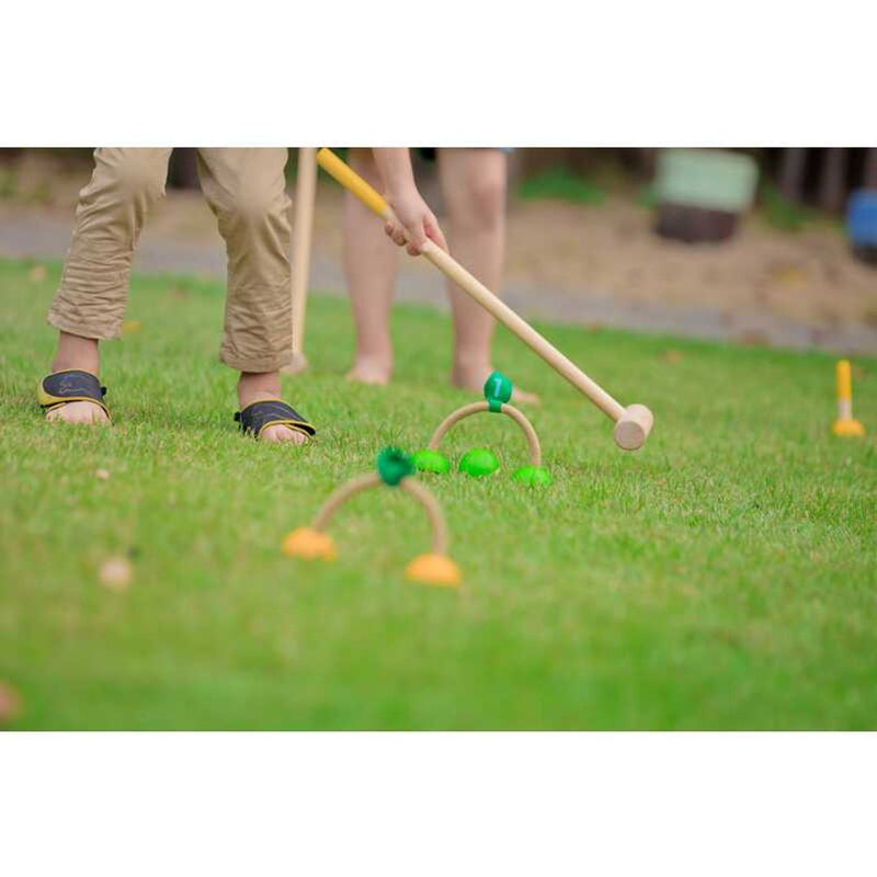
{"label": "upright pale wooden mallet just beside the khaki trousers", "polygon": [[317,196],[317,150],[303,146],[298,150],[295,181],[295,218],[293,219],[293,361],[284,368],[298,374],[308,367],[305,356],[305,312],[310,281],[310,238],[314,229],[314,202]]}

